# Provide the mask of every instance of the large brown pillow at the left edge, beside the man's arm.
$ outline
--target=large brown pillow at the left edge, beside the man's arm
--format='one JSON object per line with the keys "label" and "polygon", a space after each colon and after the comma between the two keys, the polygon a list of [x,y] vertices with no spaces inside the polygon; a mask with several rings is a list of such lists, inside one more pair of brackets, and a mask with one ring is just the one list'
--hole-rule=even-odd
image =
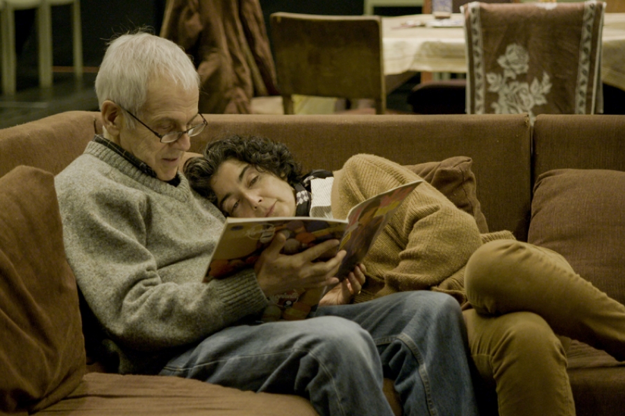
{"label": "large brown pillow at the left edge, beside the man's arm", "polygon": [[35,412],[85,371],[78,293],[53,175],[18,166],[0,177],[0,201],[0,413]]}

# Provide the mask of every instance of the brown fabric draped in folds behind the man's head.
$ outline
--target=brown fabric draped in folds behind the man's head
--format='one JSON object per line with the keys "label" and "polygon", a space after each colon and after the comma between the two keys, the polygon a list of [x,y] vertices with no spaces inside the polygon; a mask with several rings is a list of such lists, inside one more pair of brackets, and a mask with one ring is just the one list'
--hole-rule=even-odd
{"label": "brown fabric draped in folds behind the man's head", "polygon": [[192,56],[199,112],[251,114],[251,98],[278,95],[258,0],[167,0],[160,36]]}

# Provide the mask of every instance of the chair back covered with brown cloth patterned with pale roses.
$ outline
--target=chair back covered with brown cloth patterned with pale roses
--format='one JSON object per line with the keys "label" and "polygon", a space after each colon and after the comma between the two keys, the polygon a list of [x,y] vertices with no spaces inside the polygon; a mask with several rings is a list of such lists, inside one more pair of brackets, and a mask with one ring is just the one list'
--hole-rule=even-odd
{"label": "chair back covered with brown cloth patterned with pale roses", "polygon": [[467,113],[595,114],[601,1],[463,6]]}

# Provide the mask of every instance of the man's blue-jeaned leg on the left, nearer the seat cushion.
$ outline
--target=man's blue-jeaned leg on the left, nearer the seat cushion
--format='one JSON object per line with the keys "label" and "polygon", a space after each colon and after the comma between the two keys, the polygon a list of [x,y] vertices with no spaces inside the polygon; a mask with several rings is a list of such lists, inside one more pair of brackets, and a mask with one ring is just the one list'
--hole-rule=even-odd
{"label": "man's blue-jeaned leg on the left, nearer the seat cushion", "polygon": [[319,415],[392,415],[371,336],[342,318],[228,327],[173,358],[162,375],[310,399]]}

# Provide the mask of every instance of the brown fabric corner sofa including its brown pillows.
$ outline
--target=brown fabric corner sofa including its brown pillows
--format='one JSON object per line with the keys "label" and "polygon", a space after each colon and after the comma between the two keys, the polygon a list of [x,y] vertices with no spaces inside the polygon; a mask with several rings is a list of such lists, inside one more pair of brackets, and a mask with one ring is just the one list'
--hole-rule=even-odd
{"label": "brown fabric corner sofa including its brown pillows", "polygon": [[[541,115],[533,128],[524,115],[206,120],[191,151],[230,133],[257,134],[285,141],[306,168],[339,168],[355,153],[417,165],[456,205],[485,218],[483,227],[558,250],[625,302],[625,116]],[[67,112],[0,130],[0,413],[315,415],[300,397],[106,374],[90,361],[53,175],[81,155],[94,129],[98,113]],[[14,170],[20,165],[41,170]],[[574,342],[569,376],[578,415],[622,414],[625,364]]]}

